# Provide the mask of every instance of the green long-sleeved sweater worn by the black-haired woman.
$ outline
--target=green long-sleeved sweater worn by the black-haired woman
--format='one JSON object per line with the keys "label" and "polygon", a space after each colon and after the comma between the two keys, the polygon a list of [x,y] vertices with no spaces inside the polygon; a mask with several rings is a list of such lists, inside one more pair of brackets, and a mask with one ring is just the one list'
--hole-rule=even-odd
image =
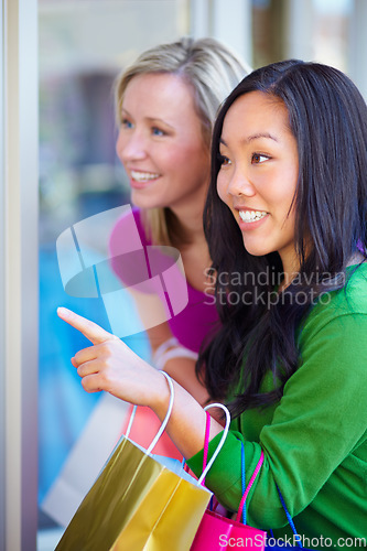
{"label": "green long-sleeved sweater worn by the black-haired woman", "polygon": [[[277,538],[292,536],[278,484],[305,548],[360,549],[367,547],[367,264],[353,273],[346,292],[324,295],[322,302],[302,325],[300,366],[280,402],[231,422],[206,484],[236,510],[241,441],[247,483],[262,449],[247,523],[272,528]],[[271,387],[272,376],[265,381]],[[209,454],[219,437],[212,440]],[[187,463],[198,475],[203,451]]]}

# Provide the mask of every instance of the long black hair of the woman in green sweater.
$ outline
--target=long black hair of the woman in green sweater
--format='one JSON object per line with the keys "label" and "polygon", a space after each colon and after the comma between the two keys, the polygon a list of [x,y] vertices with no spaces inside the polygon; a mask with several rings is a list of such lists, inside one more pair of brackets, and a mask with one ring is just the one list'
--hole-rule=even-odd
{"label": "long black hair of the woman in green sweater", "polygon": [[[238,97],[255,90],[283,101],[298,143],[294,245],[300,272],[280,295],[274,293],[282,272],[278,252],[255,257],[246,251],[216,188],[224,119]],[[197,363],[211,396],[233,398],[234,414],[280,399],[298,368],[300,323],[323,293],[344,285],[353,255],[359,250],[366,258],[366,220],[367,107],[353,82],[336,68],[298,60],[244,78],[224,102],[213,134],[204,229],[223,325]],[[276,388],[261,391],[269,371]]]}

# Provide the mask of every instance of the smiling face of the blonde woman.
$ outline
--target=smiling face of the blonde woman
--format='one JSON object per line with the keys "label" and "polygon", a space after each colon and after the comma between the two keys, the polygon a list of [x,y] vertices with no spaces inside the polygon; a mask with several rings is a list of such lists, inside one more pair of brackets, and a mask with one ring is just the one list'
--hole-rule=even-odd
{"label": "smiling face of the blonde woman", "polygon": [[209,153],[190,85],[171,74],[133,77],[120,120],[116,151],[131,202],[143,208],[203,205]]}

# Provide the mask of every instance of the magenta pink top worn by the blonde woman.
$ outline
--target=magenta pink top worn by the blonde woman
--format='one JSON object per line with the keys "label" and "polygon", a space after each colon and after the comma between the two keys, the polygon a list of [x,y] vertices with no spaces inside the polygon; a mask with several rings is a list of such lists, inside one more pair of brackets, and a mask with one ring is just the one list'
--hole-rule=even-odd
{"label": "magenta pink top worn by the blonde woman", "polygon": [[[147,238],[141,222],[141,213],[138,208],[133,208],[132,214],[134,217],[134,225],[138,228],[140,236],[142,249],[144,255],[147,255],[147,247],[151,245],[151,241]],[[122,215],[115,225],[109,242],[112,269],[119,279],[125,283],[129,280],[132,283],[131,279],[136,279],[137,277],[136,273],[132,276],[132,271],[137,270],[137,262],[140,263],[141,261],[141,257],[138,259],[138,256],[130,256],[129,266],[127,255],[121,255],[121,240],[123,237],[127,237],[127,234],[130,233],[131,214],[126,214]],[[131,255],[134,255],[134,252]],[[134,270],[131,269],[132,263]],[[141,264],[143,262],[141,262]],[[139,273],[143,273],[144,271],[147,271],[147,268],[144,270],[141,266],[141,270],[139,268]],[[140,277],[140,279],[142,278],[143,276]],[[179,314],[175,314],[168,320],[168,323],[173,336],[175,336],[183,346],[197,353],[199,352],[201,344],[205,337],[209,336],[211,333],[217,327],[218,314],[212,295],[206,295],[204,292],[194,289],[188,282],[187,294],[187,305]]]}

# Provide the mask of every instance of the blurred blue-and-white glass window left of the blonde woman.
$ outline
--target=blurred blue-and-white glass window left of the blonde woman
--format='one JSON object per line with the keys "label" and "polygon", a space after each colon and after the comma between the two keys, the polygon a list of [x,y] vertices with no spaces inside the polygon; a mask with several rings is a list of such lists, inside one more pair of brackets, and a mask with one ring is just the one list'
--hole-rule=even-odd
{"label": "blurred blue-and-white glass window left of the blonde woman", "polygon": [[[64,291],[56,240],[71,226],[99,213],[114,215],[114,207],[129,203],[115,152],[112,83],[140,52],[188,34],[187,22],[188,2],[183,0],[39,0],[42,551],[54,549],[63,532],[52,493],[100,400],[83,390],[71,365],[89,343],[57,318],[56,309],[68,306],[109,329],[101,299]],[[83,242],[96,255],[106,253],[107,230],[100,224],[97,218],[89,226],[93,231]],[[143,334],[127,342],[148,355]]]}

